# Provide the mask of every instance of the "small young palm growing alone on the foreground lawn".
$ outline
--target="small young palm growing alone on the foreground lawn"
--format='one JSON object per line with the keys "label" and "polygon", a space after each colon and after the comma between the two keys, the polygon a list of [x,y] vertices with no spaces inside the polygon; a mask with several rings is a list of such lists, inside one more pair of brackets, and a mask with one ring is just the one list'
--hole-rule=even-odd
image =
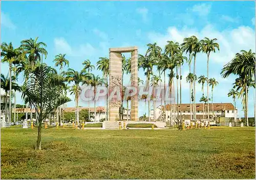
{"label": "small young palm growing alone on the foreground lawn", "polygon": [[57,72],[47,66],[41,64],[33,69],[27,69],[26,74],[29,75],[28,81],[23,85],[22,97],[25,102],[29,102],[30,108],[33,106],[38,114],[38,132],[35,149],[41,149],[41,127],[42,121],[47,115],[52,113],[62,104],[69,102],[71,99],[62,95],[63,82],[58,82],[54,78]]}

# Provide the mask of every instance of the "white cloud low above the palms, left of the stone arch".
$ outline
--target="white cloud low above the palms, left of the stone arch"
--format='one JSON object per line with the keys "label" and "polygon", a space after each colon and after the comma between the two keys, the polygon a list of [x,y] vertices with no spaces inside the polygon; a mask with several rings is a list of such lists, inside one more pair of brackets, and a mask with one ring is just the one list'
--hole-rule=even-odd
{"label": "white cloud low above the palms, left of the stone arch", "polygon": [[93,56],[96,53],[96,49],[90,43],[71,47],[66,39],[62,37],[54,39],[54,48],[56,53],[65,53],[73,57]]}

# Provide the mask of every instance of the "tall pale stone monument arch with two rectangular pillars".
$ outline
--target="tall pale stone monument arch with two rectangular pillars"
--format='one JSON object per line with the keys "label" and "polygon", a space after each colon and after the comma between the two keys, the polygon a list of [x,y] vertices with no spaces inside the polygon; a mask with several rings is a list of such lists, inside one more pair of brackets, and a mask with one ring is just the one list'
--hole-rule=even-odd
{"label": "tall pale stone monument arch with two rectangular pillars", "polygon": [[[122,53],[131,53],[131,86],[138,88],[138,48],[120,47],[110,48],[110,65],[109,65],[109,92],[115,87],[119,87],[122,92]],[[122,100],[111,99],[109,101],[109,120],[119,120],[119,107]],[[131,120],[138,120],[138,95],[131,97]]]}

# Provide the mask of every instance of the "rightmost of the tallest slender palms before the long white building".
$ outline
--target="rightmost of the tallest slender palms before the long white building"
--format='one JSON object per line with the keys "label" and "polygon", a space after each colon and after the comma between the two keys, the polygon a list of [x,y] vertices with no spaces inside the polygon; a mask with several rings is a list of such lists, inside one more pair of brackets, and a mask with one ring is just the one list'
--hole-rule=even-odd
{"label": "rightmost of the tallest slender palms before the long white building", "polygon": [[[210,53],[211,52],[215,53],[216,48],[218,50],[220,50],[220,45],[215,41],[217,41],[216,38],[209,39],[207,37],[205,37],[204,40],[201,40],[203,53],[207,54],[207,97],[209,96],[209,81],[208,81],[208,79],[209,79],[209,57],[210,57]],[[208,104],[207,111],[208,111],[208,122],[209,122],[209,101],[207,102],[207,104]]]}

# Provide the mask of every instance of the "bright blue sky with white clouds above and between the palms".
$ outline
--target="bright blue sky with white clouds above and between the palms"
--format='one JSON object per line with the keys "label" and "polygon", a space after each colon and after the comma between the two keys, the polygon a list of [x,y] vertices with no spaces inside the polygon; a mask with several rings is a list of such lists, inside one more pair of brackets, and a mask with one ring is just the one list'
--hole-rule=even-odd
{"label": "bright blue sky with white clouds above and between the palms", "polygon": [[[54,66],[53,59],[67,54],[70,68],[82,69],[82,62],[89,59],[93,65],[99,57],[109,57],[110,47],[138,46],[144,55],[146,44],[156,42],[162,49],[166,41],[183,42],[184,37],[196,35],[199,39],[217,38],[220,52],[210,54],[209,78],[219,85],[213,91],[214,102],[231,102],[228,91],[236,76],[222,79],[223,65],[231,61],[240,50],[255,52],[255,3],[251,2],[1,2],[1,43],[38,37],[47,44],[48,56],[44,60]],[[125,54],[130,57],[129,54]],[[207,74],[205,54],[200,53],[196,61],[196,74]],[[57,68],[58,69],[58,68]],[[65,68],[65,70],[67,67]],[[8,64],[1,67],[8,73]],[[182,67],[182,102],[189,103],[189,84],[185,77],[188,65]],[[93,73],[102,75],[97,69]],[[157,73],[155,71],[155,73]],[[167,76],[166,72],[166,76]],[[139,77],[145,81],[144,72]],[[162,75],[163,78],[163,75]],[[128,83],[130,75],[124,76]],[[166,78],[167,81],[167,78]],[[18,83],[22,84],[19,76]],[[196,85],[196,100],[202,96],[201,85]],[[206,87],[205,87],[206,89]],[[253,117],[254,89],[249,90],[249,117]],[[74,99],[73,95],[69,95]],[[17,93],[17,104],[23,104]],[[73,107],[74,101],[67,104]],[[79,106],[88,106],[79,102]],[[96,106],[104,106],[98,102]],[[91,105],[93,107],[93,103]],[[124,107],[126,105],[124,104]],[[153,107],[151,107],[152,109]],[[237,100],[240,117],[243,117],[241,99]],[[139,115],[147,112],[140,102]]]}

